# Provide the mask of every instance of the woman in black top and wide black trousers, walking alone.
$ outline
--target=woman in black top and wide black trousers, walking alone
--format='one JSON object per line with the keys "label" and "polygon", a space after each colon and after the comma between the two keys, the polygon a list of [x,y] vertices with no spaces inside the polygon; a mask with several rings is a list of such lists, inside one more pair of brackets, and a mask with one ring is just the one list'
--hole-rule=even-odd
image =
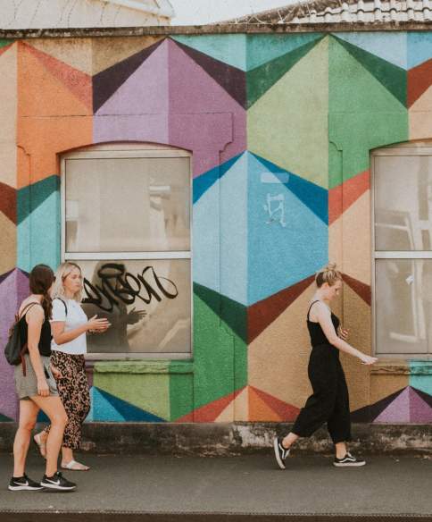
{"label": "woman in black top and wide black trousers, walking alone", "polygon": [[347,331],[340,328],[339,319],[329,305],[342,288],[342,274],[335,264],[329,264],[316,276],[317,290],[307,313],[312,353],[308,375],[313,393],[295,420],[291,433],[285,438],[275,437],[273,448],[278,467],[285,469],[285,459],[299,437],[310,437],[327,422],[328,432],[336,447],[336,467],[364,466],[366,462],[353,457],[346,448],[351,440],[351,419],[348,388],[339,351],[360,358],[364,365],[372,365],[377,358],[370,357],[346,342]]}

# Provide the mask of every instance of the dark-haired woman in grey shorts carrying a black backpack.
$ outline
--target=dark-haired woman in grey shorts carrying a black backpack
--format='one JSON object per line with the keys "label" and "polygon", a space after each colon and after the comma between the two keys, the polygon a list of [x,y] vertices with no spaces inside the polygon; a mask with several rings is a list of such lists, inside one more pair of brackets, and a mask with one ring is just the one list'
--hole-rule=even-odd
{"label": "dark-haired woman in grey shorts carrying a black backpack", "polygon": [[[37,265],[29,274],[31,295],[24,299],[19,309],[22,346],[27,342],[21,364],[15,366],[16,392],[20,399],[20,420],[13,442],[13,476],[9,490],[37,491],[48,488],[71,491],[76,488],[57,471],[57,460],[62,446],[64,426],[68,421],[62,401],[59,399],[52,368],[51,328],[49,319],[52,301],[49,295],[54,274],[49,266]],[[49,417],[52,429],[46,439],[46,473],[40,483],[25,473],[31,430],[36,425],[39,409]]]}

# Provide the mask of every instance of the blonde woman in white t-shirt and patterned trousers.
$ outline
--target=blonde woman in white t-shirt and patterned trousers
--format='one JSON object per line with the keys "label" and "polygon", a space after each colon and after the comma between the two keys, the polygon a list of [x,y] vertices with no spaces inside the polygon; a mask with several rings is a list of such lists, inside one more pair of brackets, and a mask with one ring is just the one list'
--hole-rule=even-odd
{"label": "blonde woman in white t-shirt and patterned trousers", "polygon": [[[62,263],[55,273],[51,290],[53,316],[51,331],[51,364],[56,369],[57,390],[68,415],[62,442],[62,468],[87,471],[89,467],[74,459],[73,451],[79,449],[82,423],[90,409],[90,392],[87,382],[84,356],[87,353],[87,332],[103,333],[110,326],[106,319],[93,316],[87,319],[80,302],[83,278],[79,265]],[[46,438],[51,426],[36,434],[34,439],[43,456],[46,454]]]}

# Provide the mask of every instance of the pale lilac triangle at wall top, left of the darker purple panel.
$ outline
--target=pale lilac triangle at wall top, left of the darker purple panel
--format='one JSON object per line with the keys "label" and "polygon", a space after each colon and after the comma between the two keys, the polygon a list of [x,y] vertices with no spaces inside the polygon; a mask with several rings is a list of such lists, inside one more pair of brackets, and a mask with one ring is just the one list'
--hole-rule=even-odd
{"label": "pale lilac triangle at wall top, left of the darker purple panel", "polygon": [[96,114],[168,114],[166,40],[129,76]]}

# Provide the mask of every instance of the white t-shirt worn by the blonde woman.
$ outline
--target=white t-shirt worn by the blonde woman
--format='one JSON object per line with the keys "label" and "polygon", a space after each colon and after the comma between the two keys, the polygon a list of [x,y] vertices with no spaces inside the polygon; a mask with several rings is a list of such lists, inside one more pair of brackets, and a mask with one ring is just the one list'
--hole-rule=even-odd
{"label": "white t-shirt worn by the blonde woman", "polygon": [[[87,316],[77,301],[64,298],[62,298],[62,300],[66,303],[68,313],[66,315],[66,309],[60,299],[53,299],[52,322],[64,321],[64,332],[70,332],[71,330],[75,330],[75,328],[79,328],[79,326],[87,323]],[[51,349],[69,353],[71,355],[82,355],[87,353],[86,333],[81,333],[81,335],[73,341],[65,342],[60,345],[57,345],[53,339],[51,341]]]}

